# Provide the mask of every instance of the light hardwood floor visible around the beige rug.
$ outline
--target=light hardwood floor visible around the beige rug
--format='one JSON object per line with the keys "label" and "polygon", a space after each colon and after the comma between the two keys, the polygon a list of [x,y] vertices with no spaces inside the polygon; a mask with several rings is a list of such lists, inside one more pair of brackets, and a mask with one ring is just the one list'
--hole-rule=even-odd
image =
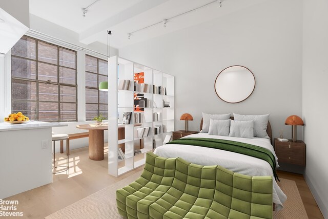
{"label": "light hardwood floor visible around the beige rug", "polygon": [[[57,158],[63,154],[56,154]],[[65,164],[65,161],[63,161]],[[143,166],[120,177],[108,174],[108,148],[105,144],[104,161],[92,161],[88,157],[88,147],[71,150],[70,169],[53,175],[53,183],[38,187],[5,200],[17,200],[17,211],[23,212],[19,218],[44,218],[76,201],[93,194],[123,178],[140,171]],[[278,171],[279,177],[294,180],[299,189],[306,212],[310,219],[323,218],[308,185],[300,174]],[[13,217],[14,218],[14,217]],[[17,217],[15,217],[17,218]]]}

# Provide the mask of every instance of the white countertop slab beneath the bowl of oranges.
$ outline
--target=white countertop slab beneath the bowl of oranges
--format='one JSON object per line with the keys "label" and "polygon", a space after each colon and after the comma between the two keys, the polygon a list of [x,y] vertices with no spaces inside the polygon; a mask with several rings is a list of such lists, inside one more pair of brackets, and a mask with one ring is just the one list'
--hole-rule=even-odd
{"label": "white countertop slab beneath the bowl of oranges", "polygon": [[52,128],[52,127],[61,127],[67,126],[67,124],[62,123],[45,123],[39,121],[28,121],[23,124],[10,124],[10,123],[0,123],[0,132],[1,131],[14,131],[14,130],[25,130],[25,129],[43,129],[43,128]]}

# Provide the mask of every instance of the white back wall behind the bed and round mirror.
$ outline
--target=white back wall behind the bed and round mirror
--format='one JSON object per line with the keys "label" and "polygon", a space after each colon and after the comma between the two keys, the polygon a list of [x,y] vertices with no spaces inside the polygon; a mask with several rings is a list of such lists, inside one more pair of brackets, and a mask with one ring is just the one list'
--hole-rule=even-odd
{"label": "white back wall behind the bed and round mirror", "polygon": [[[190,130],[199,130],[202,111],[271,113],[273,136],[283,129],[290,138],[291,127],[284,121],[302,114],[302,2],[298,0],[265,1],[120,48],[119,55],[175,75],[176,130],[184,129],[179,117],[187,112],[194,117]],[[253,94],[237,104],[221,101],[214,91],[217,74],[231,65],[248,67],[256,79]]]}

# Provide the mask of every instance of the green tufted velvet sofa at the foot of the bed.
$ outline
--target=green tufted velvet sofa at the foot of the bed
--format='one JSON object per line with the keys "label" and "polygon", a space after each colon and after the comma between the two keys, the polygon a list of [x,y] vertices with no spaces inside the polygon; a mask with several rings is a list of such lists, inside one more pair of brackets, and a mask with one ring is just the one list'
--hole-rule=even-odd
{"label": "green tufted velvet sofa at the foot of the bed", "polygon": [[126,218],[272,218],[272,176],[248,176],[149,152],[145,170],[116,191]]}

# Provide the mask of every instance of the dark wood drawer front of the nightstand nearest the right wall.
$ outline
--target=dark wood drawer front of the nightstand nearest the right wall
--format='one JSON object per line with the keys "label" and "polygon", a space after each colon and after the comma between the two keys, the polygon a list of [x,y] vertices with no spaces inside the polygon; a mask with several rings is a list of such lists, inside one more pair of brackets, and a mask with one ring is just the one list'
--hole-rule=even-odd
{"label": "dark wood drawer front of the nightstand nearest the right wall", "polygon": [[276,144],[278,162],[305,166],[305,148],[303,146]]}

